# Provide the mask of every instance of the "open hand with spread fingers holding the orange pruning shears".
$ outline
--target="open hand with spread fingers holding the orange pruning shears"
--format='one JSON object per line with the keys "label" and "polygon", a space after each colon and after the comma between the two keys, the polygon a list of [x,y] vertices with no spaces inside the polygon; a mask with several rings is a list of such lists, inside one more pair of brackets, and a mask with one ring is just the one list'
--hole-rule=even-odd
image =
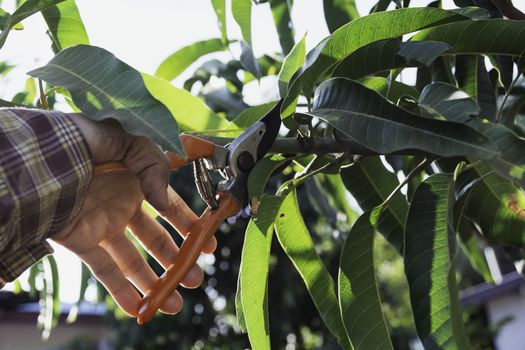
{"label": "open hand with spread fingers holding the orange pruning shears", "polygon": [[[126,236],[126,227],[167,268],[178,247],[166,229],[144,211],[144,197],[182,235],[197,216],[169,188],[167,159],[153,142],[127,134],[118,124],[96,123],[80,115],[72,118],[80,125],[95,162],[122,160],[130,173],[95,177],[80,213],[52,239],[89,266],[122,310],[137,316],[141,297],[133,286],[144,294],[157,276]],[[213,238],[203,252],[211,253],[215,247]],[[202,280],[203,272],[195,265],[182,285],[196,288]],[[173,314],[181,307],[182,297],[175,291],[161,311]]]}

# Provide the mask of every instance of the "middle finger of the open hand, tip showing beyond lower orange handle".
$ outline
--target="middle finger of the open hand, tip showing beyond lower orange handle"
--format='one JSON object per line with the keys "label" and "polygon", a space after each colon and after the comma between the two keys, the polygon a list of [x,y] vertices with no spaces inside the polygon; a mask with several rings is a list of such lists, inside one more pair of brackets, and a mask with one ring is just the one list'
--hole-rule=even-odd
{"label": "middle finger of the open hand, tip showing beyond lower orange handle", "polygon": [[[137,213],[129,223],[133,235],[142,243],[164,269],[167,269],[179,251],[168,231],[157,221],[151,218],[144,210]],[[202,284],[204,273],[195,264],[184,276],[181,285],[186,288],[197,288]]]}

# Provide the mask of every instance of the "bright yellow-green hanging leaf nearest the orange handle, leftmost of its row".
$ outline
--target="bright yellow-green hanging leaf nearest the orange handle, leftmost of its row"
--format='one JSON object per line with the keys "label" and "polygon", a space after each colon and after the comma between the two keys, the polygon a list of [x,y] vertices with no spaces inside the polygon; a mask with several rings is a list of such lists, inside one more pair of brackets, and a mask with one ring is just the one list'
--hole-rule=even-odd
{"label": "bright yellow-green hanging leaf nearest the orange handle, leftmost of its row", "polygon": [[268,324],[268,268],[274,220],[281,198],[264,197],[257,217],[246,228],[241,255],[241,304],[250,344],[270,349]]}

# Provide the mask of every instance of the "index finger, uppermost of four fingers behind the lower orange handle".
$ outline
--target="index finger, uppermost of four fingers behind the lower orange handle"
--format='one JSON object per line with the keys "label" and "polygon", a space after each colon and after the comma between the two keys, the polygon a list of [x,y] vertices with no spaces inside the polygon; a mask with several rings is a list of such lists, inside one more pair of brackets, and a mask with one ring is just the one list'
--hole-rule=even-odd
{"label": "index finger, uppermost of four fingers behind the lower orange handle", "polygon": [[[186,237],[191,226],[199,219],[186,202],[171,187],[168,188],[169,206],[167,210],[161,211],[160,215],[173,226],[177,232]],[[211,236],[202,248],[202,252],[211,254],[217,248],[217,239]]]}

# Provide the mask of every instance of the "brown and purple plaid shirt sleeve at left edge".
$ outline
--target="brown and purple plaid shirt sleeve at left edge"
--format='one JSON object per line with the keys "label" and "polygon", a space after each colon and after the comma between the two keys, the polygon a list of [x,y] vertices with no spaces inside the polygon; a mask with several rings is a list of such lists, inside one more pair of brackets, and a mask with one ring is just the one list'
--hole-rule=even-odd
{"label": "brown and purple plaid shirt sleeve at left edge", "polygon": [[67,115],[0,109],[0,288],[53,252],[46,238],[78,214],[92,167]]}

